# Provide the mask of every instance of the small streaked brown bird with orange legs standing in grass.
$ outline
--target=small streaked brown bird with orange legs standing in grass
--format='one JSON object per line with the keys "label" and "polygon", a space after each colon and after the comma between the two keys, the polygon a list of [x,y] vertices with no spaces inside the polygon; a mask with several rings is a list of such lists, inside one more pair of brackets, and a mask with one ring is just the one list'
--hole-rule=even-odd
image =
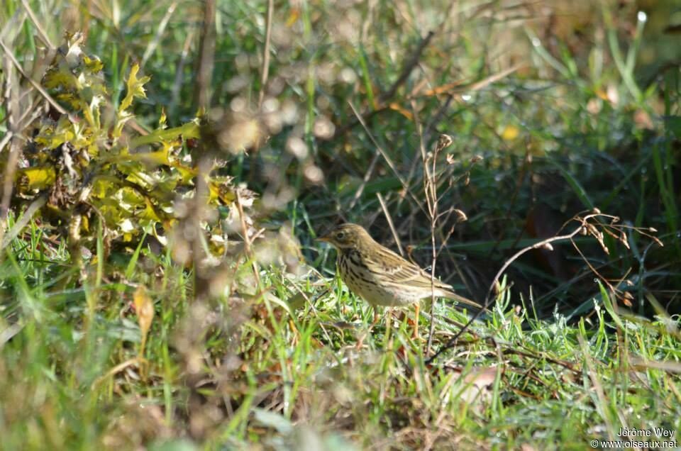
{"label": "small streaked brown bird with orange legs standing in grass", "polygon": [[[401,307],[416,304],[421,299],[437,298],[456,301],[482,308],[480,304],[459,296],[452,286],[435,279],[377,243],[361,225],[345,223],[319,238],[338,250],[338,272],[350,291],[360,296],[374,308],[377,323],[377,306]],[[416,304],[414,337],[419,336],[419,304]]]}

